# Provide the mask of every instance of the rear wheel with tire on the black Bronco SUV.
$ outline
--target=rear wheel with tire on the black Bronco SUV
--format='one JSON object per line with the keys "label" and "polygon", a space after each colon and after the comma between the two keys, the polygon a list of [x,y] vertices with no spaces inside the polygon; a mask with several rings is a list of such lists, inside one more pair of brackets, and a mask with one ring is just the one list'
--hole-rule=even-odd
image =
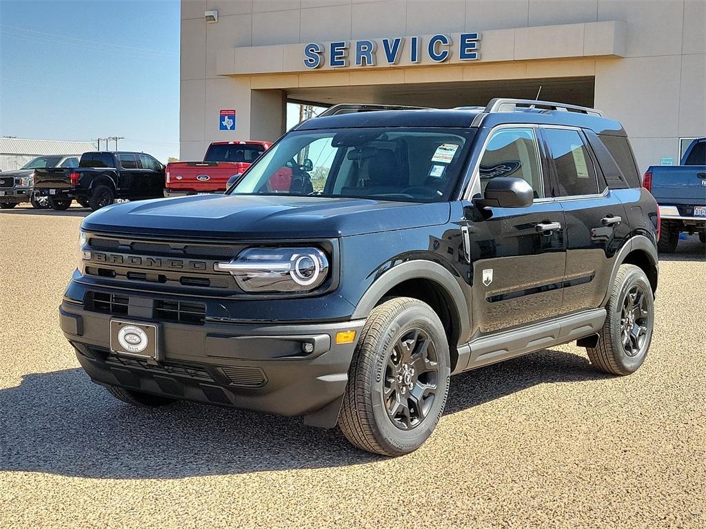
{"label": "rear wheel with tire on the black Bronco SUV", "polygon": [[654,297],[645,272],[621,265],[606,306],[606,321],[588,358],[601,371],[630,375],[642,365],[652,340]]}

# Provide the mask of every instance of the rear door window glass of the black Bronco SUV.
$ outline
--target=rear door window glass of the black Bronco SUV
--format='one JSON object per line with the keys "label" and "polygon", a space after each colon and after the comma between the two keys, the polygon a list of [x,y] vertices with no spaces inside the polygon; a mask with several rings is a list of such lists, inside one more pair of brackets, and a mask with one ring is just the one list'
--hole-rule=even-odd
{"label": "rear door window glass of the black Bronco SUV", "polygon": [[596,168],[578,130],[544,128],[542,135],[554,160],[559,196],[597,194]]}

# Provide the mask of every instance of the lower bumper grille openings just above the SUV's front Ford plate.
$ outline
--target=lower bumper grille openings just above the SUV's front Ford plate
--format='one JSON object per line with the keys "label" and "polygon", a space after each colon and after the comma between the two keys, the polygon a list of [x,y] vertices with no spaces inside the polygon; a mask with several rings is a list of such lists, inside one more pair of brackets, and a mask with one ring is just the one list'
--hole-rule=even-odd
{"label": "lower bumper grille openings just above the SUV's front Ford plate", "polygon": [[[137,297],[135,298],[138,299]],[[139,298],[143,299],[143,298]],[[152,309],[153,320],[189,325],[203,325],[206,317],[205,303],[191,301],[170,301],[155,299]],[[111,315],[129,315],[130,296],[123,294],[88,291],[83,301],[85,310]],[[144,308],[144,303],[140,303]]]}

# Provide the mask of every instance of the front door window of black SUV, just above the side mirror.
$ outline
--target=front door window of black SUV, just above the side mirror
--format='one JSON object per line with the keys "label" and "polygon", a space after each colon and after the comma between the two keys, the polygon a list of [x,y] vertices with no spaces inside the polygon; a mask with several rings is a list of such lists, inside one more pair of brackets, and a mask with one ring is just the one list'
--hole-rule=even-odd
{"label": "front door window of black SUV, just above the side mirror", "polygon": [[492,178],[513,176],[532,186],[534,198],[544,198],[542,165],[532,128],[501,128],[493,133],[479,166],[481,192]]}

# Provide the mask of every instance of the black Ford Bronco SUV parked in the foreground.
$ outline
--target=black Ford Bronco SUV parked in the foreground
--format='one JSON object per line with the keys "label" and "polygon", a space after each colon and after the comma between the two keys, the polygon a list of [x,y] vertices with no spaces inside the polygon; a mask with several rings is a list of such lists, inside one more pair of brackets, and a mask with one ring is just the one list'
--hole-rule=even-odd
{"label": "black Ford Bronco SUV parked in the foreground", "polygon": [[659,223],[620,123],[515,99],[326,114],[225,195],[83,221],[61,327],[95,382],[304,415],[395,456],[455,373],[569,341],[640,367]]}

